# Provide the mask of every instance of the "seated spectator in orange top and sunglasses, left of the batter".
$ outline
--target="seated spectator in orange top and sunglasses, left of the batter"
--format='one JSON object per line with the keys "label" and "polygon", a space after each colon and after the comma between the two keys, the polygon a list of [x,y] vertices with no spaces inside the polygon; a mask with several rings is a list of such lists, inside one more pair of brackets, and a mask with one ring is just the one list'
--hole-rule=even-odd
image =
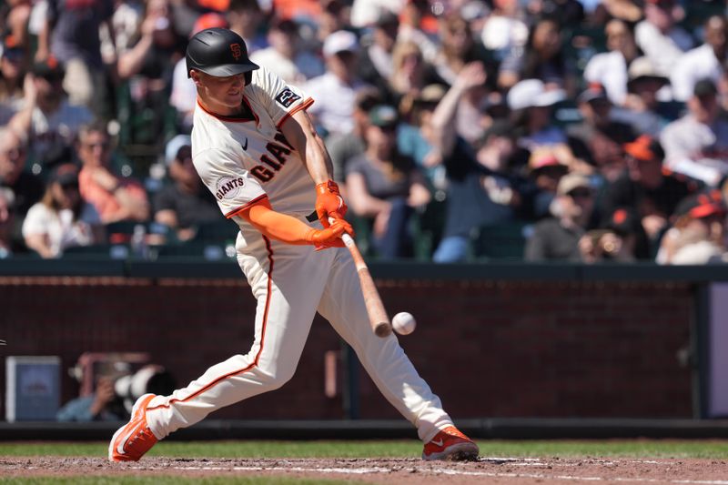
{"label": "seated spectator in orange top and sunglasses, left of the batter", "polygon": [[149,218],[147,193],[139,182],[112,171],[112,146],[106,126],[83,126],[76,152],[83,163],[79,174],[81,196],[96,207],[104,224]]}

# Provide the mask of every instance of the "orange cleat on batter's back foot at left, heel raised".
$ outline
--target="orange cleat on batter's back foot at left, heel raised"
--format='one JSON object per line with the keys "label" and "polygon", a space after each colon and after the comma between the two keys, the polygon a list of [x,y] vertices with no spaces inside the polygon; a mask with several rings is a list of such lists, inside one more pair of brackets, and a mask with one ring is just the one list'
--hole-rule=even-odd
{"label": "orange cleat on batter's back foot at left, heel raised", "polygon": [[138,461],[157,443],[157,437],[147,426],[147,405],[156,397],[154,394],[145,394],[136,399],[131,409],[131,419],[116,429],[108,445],[109,461]]}

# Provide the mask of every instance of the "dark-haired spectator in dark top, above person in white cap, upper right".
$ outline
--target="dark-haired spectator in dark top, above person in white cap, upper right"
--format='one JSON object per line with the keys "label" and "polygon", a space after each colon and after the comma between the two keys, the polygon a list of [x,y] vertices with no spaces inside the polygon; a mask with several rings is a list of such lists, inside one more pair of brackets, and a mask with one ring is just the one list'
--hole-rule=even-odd
{"label": "dark-haired spectator in dark top, above person in white cap, upper right", "polygon": [[564,55],[561,25],[542,18],[532,27],[524,49],[513,49],[503,59],[498,85],[508,89],[523,79],[540,79],[546,86],[560,87],[567,93],[576,89],[572,59]]}

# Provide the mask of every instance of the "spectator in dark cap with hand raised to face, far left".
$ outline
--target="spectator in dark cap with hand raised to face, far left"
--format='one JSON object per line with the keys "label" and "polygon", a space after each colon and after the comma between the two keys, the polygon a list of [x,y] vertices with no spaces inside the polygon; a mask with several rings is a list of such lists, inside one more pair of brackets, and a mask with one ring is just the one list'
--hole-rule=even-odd
{"label": "spectator in dark cap with hand raised to face, far left", "polygon": [[16,133],[28,134],[34,174],[70,160],[78,128],[93,118],[85,106],[68,102],[63,78],[55,57],[36,62],[25,76],[25,105],[8,123]]}

